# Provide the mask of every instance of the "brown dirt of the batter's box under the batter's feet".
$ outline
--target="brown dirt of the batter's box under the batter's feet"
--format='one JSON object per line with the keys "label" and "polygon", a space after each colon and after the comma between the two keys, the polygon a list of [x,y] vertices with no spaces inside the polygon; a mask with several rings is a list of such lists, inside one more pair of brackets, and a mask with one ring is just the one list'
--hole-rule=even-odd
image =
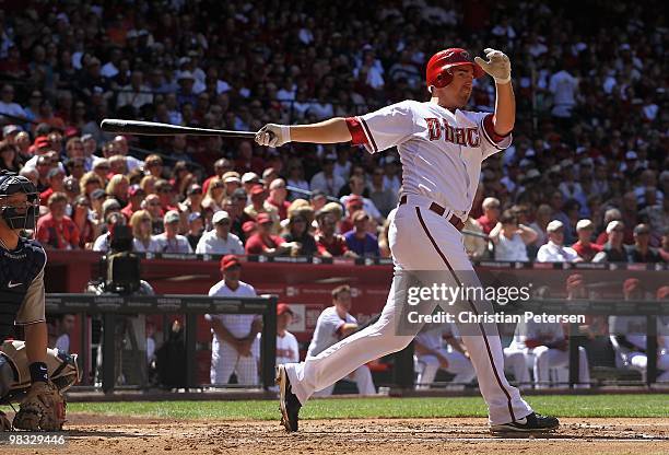
{"label": "brown dirt of the batter's box under the batter's feet", "polygon": [[[561,419],[548,436],[492,438],[485,419],[190,420],[69,415],[68,446],[14,453],[102,454],[669,454],[669,419]],[[7,452],[2,447],[0,452]]]}

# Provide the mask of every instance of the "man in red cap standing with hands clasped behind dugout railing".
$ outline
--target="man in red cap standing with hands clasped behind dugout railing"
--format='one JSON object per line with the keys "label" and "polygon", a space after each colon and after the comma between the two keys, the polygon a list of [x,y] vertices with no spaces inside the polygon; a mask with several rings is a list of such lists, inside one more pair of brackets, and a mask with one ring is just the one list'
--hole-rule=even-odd
{"label": "man in red cap standing with hands clasped behind dugout railing", "polygon": [[[211,298],[255,298],[253,285],[240,280],[242,264],[236,256],[226,255],[221,259],[223,279],[209,290]],[[211,324],[211,370],[212,384],[230,383],[233,373],[237,383],[258,384],[259,343],[257,335],[261,319],[250,314],[207,314]]]}

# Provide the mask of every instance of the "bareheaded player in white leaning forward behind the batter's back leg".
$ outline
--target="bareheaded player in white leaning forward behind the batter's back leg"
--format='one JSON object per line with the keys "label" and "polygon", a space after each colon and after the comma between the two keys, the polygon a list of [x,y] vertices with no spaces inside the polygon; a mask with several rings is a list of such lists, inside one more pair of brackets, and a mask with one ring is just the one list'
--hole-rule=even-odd
{"label": "bareheaded player in white leaning forward behind the batter's back leg", "polygon": [[[349,337],[357,330],[357,320],[349,313],[351,311],[351,288],[348,284],[340,285],[332,290],[332,306],[320,313],[316,320],[314,338],[309,343],[307,357],[316,357],[339,340]],[[375,395],[376,388],[372,382],[372,373],[367,365],[362,365],[353,371],[349,378],[357,384],[360,395]],[[332,394],[334,384],[317,392],[317,396],[329,396]]]}

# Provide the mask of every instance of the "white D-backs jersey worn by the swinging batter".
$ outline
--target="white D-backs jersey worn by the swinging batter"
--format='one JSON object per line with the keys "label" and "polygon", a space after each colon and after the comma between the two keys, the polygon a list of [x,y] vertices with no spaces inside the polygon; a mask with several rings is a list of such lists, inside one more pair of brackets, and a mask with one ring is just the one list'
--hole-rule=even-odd
{"label": "white D-backs jersey worn by the swinging batter", "polygon": [[349,121],[354,144],[369,153],[397,145],[404,194],[430,197],[462,220],[473,202],[481,162],[512,142],[510,135],[494,133],[490,113],[450,112],[430,102],[403,101],[355,119]]}

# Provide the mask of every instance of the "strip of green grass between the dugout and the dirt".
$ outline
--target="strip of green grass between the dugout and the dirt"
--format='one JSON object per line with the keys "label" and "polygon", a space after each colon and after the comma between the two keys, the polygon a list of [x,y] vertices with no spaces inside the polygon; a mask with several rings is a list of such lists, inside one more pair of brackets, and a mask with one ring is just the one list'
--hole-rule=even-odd
{"label": "strip of green grass between the dugout and the dirt", "polygon": [[[558,417],[669,417],[669,395],[530,396],[541,413]],[[278,401],[72,402],[68,412],[174,419],[275,420]],[[315,399],[303,419],[485,417],[479,397]]]}

